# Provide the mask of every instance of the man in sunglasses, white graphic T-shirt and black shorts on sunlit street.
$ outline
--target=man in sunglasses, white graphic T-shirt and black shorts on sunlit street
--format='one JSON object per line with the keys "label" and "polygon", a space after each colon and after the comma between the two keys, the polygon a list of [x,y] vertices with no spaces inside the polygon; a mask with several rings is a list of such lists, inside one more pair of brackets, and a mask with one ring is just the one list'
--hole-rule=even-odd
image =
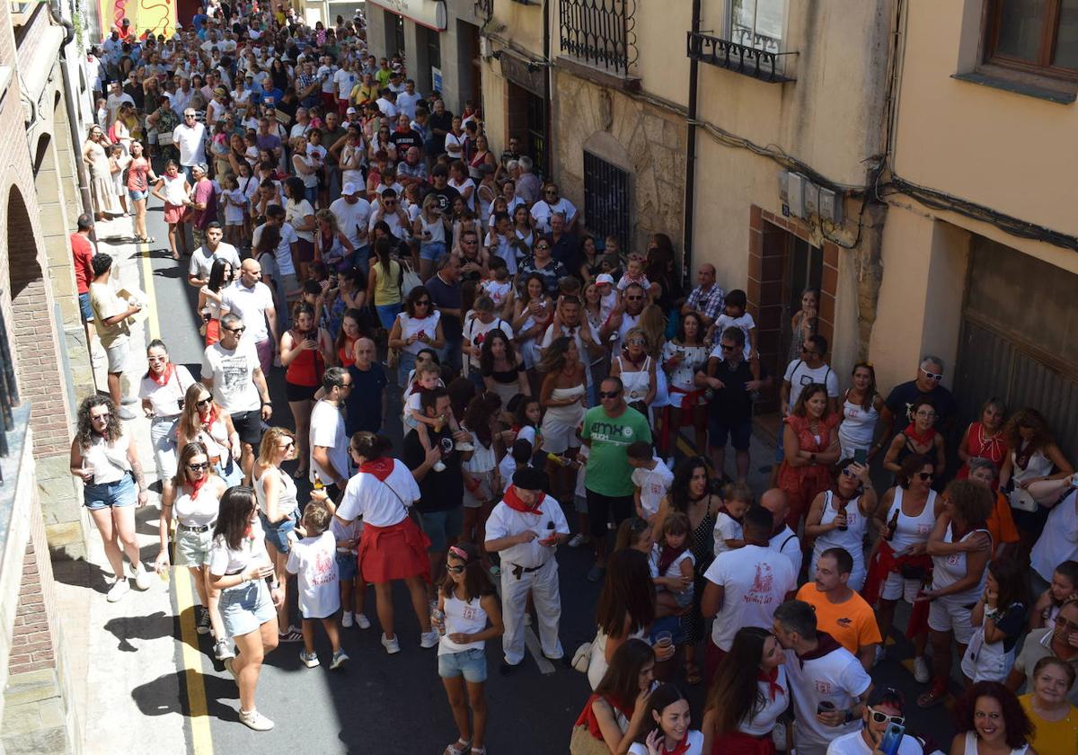
{"label": "man in sunglasses, white graphic T-shirt and black shorts on sunlit street", "polygon": [[254,345],[244,338],[243,319],[221,316],[221,340],[203,353],[202,382],[213,392],[213,400],[232,417],[243,444],[240,465],[250,475],[253,448],[262,439],[262,422],[273,416],[265,372],[259,366]]}

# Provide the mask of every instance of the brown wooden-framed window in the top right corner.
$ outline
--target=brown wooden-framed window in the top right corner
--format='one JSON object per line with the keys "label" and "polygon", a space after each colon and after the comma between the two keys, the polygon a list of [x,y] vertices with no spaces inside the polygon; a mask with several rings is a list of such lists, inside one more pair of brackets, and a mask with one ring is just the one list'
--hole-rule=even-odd
{"label": "brown wooden-framed window in the top right corner", "polygon": [[992,0],[984,61],[1078,80],[1078,0]]}

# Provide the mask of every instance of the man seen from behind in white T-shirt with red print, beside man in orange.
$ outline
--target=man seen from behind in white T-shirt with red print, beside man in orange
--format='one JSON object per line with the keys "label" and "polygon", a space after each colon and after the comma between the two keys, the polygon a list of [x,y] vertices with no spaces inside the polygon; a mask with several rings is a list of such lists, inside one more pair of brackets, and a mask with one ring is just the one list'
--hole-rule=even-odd
{"label": "man seen from behind in white T-shirt with red print, beside man in orange", "polygon": [[[710,682],[742,627],[771,627],[775,608],[793,596],[797,575],[789,560],[768,547],[771,512],[754,506],[745,512],[745,546],[715,557],[704,577],[701,600],[704,618],[715,617],[705,664]],[[800,743],[799,743],[800,750]]]}

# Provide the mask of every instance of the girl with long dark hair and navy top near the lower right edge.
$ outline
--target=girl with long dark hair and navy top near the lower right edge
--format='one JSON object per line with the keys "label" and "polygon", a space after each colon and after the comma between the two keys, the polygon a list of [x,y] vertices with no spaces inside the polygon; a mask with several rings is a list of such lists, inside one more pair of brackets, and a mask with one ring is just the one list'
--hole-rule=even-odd
{"label": "girl with long dark hair and navy top near the lower right edge", "polygon": [[1014,559],[990,561],[984,594],[969,622],[976,627],[962,658],[973,684],[1003,682],[1014,665],[1014,646],[1025,629],[1025,571]]}

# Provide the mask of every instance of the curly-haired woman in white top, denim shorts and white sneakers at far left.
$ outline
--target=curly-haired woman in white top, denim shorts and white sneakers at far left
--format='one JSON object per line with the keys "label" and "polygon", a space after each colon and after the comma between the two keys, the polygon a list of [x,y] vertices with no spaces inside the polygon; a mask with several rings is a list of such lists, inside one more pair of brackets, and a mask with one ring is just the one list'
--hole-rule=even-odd
{"label": "curly-haired woman in white top, denim shorts and white sneakers at far left", "polygon": [[150,587],[150,575],[142,566],[135,541],[135,507],[146,506],[146,480],[138,450],[124,433],[116,407],[108,396],[87,396],[79,406],[69,468],[83,482],[84,505],[101,533],[105,557],[115,575],[109,588],[109,602],[115,603],[130,590],[124,573],[124,552],[130,559],[136,587],[146,590]]}

